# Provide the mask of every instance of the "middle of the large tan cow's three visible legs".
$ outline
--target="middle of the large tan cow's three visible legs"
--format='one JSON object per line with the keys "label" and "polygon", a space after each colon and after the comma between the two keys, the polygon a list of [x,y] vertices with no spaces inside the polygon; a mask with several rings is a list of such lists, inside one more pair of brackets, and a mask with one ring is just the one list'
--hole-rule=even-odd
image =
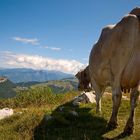
{"label": "middle of the large tan cow's three visible legs", "polygon": [[107,127],[109,130],[115,129],[118,125],[117,114],[118,114],[118,110],[121,104],[121,98],[122,98],[121,88],[120,87],[113,88],[112,89],[113,109],[112,109],[112,115],[111,115],[111,118]]}

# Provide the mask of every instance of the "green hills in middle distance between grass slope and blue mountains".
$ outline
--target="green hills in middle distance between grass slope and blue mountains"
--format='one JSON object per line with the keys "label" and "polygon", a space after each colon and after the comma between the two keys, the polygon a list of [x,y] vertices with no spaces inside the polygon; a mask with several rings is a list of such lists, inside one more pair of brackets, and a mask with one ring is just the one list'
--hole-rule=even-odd
{"label": "green hills in middle distance between grass slope and blue mountains", "polygon": [[0,98],[14,97],[18,92],[34,88],[50,88],[52,93],[65,93],[77,90],[75,78],[53,80],[47,82],[21,82],[14,84],[8,78],[0,77]]}

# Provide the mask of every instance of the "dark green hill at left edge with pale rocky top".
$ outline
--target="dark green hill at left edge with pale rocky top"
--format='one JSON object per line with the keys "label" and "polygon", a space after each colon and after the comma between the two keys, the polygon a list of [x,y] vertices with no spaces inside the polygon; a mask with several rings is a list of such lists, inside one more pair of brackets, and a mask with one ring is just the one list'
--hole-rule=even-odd
{"label": "dark green hill at left edge with pale rocky top", "polygon": [[16,85],[5,77],[0,77],[0,98],[14,97]]}

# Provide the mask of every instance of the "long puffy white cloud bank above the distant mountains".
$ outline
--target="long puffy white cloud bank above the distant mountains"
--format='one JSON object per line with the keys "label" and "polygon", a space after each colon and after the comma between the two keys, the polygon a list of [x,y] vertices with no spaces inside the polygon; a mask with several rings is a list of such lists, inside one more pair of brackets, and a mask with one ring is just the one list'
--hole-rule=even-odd
{"label": "long puffy white cloud bank above the distant mountains", "polygon": [[14,54],[12,52],[3,52],[2,54],[1,57],[3,56],[5,63],[10,67],[47,69],[76,74],[86,66],[76,60],[53,59],[39,55]]}

